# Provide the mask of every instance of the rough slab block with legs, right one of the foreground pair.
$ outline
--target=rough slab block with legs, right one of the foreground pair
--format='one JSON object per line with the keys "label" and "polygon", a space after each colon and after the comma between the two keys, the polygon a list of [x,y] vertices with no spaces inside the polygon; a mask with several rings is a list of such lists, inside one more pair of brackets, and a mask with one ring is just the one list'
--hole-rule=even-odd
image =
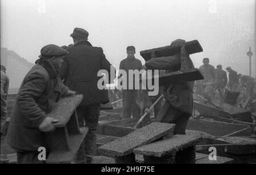
{"label": "rough slab block with legs, right one of the foreground pair", "polygon": [[144,163],[195,163],[195,145],[203,138],[200,132],[174,135],[134,149],[135,154],[144,156]]}

